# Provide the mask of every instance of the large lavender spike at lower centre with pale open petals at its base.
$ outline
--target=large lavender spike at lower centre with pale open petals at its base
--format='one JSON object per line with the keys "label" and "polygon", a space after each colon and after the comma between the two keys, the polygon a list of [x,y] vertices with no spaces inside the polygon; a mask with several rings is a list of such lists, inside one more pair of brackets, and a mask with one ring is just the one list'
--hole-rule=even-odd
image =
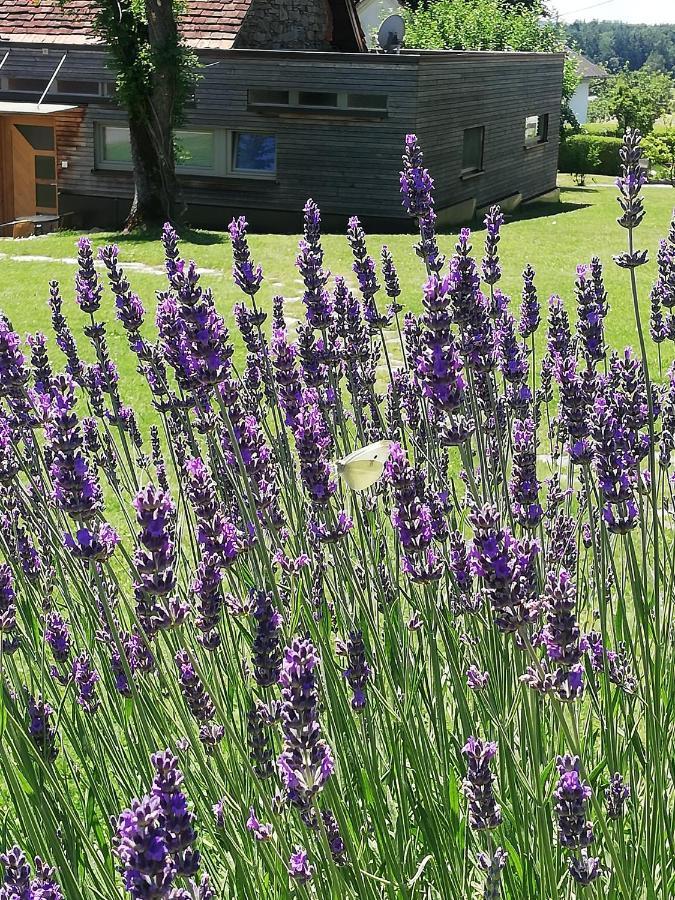
{"label": "large lavender spike at lower centre with pale open petals at its base", "polygon": [[306,809],[333,774],[333,755],[321,737],[312,643],[295,638],[284,652],[281,684],[281,729],[284,746],[277,760],[288,800]]}

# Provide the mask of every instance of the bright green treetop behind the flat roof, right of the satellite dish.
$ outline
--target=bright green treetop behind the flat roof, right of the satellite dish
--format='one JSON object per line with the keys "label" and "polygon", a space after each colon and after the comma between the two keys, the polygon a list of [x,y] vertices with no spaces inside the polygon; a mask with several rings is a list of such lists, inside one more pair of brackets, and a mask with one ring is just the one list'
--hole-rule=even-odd
{"label": "bright green treetop behind the flat roof, right of the satellite dish", "polygon": [[404,12],[406,44],[421,50],[561,50],[562,28],[543,15],[539,2],[433,0]]}

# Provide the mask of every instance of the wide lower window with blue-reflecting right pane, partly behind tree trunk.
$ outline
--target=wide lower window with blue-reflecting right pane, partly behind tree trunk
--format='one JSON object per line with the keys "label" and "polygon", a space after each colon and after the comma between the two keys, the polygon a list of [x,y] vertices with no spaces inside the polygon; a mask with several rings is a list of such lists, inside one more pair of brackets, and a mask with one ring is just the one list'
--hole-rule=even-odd
{"label": "wide lower window with blue-reflecting right pane, partly behind tree trunk", "polygon": [[[224,178],[235,174],[269,177],[276,173],[277,139],[271,134],[185,128],[176,132],[175,140],[179,174]],[[96,164],[102,169],[131,169],[128,126],[96,126]]]}

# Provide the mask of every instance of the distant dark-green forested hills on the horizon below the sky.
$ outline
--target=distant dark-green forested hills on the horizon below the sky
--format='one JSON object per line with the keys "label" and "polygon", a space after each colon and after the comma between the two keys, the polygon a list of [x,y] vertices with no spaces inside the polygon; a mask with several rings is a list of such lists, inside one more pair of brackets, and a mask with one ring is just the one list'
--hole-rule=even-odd
{"label": "distant dark-green forested hills on the horizon below the sky", "polygon": [[569,44],[612,72],[649,66],[675,76],[675,25],[572,22],[567,35]]}

